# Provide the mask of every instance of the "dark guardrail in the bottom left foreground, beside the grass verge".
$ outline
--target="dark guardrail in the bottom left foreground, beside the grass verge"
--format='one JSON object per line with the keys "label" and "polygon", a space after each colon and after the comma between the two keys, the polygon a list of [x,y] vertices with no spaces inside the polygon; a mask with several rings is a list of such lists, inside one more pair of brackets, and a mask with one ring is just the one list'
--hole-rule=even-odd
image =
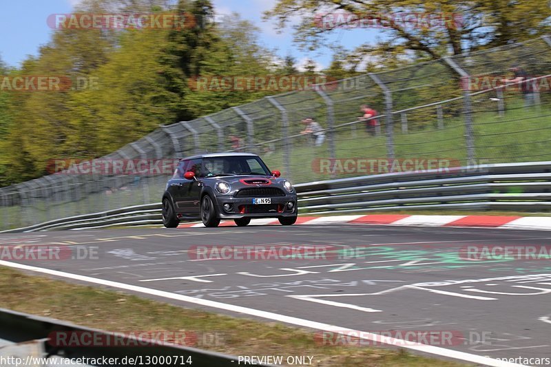
{"label": "dark guardrail in the bottom left foreground, beside the grass verge", "polygon": [[[116,346],[58,346],[50,340],[54,333],[90,333],[94,335],[94,340],[117,340]],[[118,358],[139,358],[143,355],[149,357],[191,357],[191,366],[235,366],[237,357],[222,355],[220,353],[209,352],[198,348],[187,346],[169,345],[160,341],[148,341],[152,347],[144,348],[143,339],[136,339],[132,335],[117,335],[107,331],[100,331],[93,328],[76,326],[68,322],[62,322],[56,319],[39,317],[19,313],[0,308],[0,339],[6,339],[14,344],[4,346],[10,348],[10,355],[14,355],[14,350],[19,348],[19,356],[32,355],[33,357],[63,357],[71,359],[87,358],[105,359]],[[78,344],[78,343],[77,343]],[[2,349],[0,348],[0,355]],[[25,360],[25,358],[23,358]],[[35,364],[36,365],[36,364]],[[63,364],[59,364],[63,365]],[[68,366],[69,364],[64,364]],[[120,365],[120,364],[118,364]],[[160,365],[162,366],[162,365]],[[266,365],[264,365],[266,366]]]}

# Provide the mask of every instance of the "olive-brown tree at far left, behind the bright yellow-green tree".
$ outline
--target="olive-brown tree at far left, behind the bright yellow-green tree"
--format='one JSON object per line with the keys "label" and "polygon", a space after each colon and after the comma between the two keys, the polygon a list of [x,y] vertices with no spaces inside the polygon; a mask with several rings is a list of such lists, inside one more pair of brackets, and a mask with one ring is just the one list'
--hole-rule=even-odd
{"label": "olive-brown tree at far left, behind the bright yellow-green tree", "polygon": [[65,150],[71,134],[70,101],[77,81],[87,78],[107,62],[114,48],[109,32],[101,30],[56,30],[37,57],[23,61],[10,76],[56,76],[70,80],[68,89],[43,92],[9,92],[12,123],[0,147],[3,164],[14,180],[48,174],[48,160],[71,156]]}

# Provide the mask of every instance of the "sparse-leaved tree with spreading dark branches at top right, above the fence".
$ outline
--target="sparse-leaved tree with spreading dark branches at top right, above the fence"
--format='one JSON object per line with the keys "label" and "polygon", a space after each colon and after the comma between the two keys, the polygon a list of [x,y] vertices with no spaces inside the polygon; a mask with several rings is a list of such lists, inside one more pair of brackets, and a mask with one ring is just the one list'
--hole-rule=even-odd
{"label": "sparse-leaved tree with spreading dark branches at top right, above the fence", "polygon": [[[330,13],[329,17],[321,17]],[[384,37],[376,45],[362,45],[363,54],[407,55],[410,58],[439,59],[525,41],[550,31],[548,0],[508,1],[419,1],[413,0],[278,0],[266,12],[266,19],[278,19],[280,28],[291,17],[303,19],[296,26],[296,39],[311,49],[325,44],[326,35],[346,25],[352,14],[366,23],[384,25]],[[420,14],[443,17],[426,23]],[[406,18],[408,16],[409,18]],[[413,16],[413,18],[412,18]],[[415,19],[416,18],[416,19]],[[413,19],[407,21],[408,19]],[[426,25],[426,26],[425,26]]]}

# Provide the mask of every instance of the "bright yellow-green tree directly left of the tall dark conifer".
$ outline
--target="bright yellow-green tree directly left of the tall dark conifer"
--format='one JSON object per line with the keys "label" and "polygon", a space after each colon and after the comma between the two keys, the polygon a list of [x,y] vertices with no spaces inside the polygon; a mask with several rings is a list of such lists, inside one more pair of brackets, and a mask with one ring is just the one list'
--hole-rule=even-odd
{"label": "bright yellow-green tree directly left of the tall dark conifer", "polygon": [[174,122],[178,94],[170,92],[159,62],[167,41],[165,30],[120,34],[110,60],[91,74],[93,85],[67,103],[70,134],[67,151],[78,156],[108,154]]}

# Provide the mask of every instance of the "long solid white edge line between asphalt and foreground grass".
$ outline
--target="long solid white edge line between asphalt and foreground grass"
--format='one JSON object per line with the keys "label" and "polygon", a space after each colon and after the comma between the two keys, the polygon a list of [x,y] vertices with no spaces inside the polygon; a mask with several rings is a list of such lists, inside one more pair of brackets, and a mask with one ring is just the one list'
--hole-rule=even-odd
{"label": "long solid white edge line between asphalt and foreground grass", "polygon": [[[527,367],[522,364],[514,364],[507,361],[500,361],[498,359],[492,359],[490,357],[483,357],[480,355],[474,355],[471,353],[460,352],[459,350],[452,350],[441,348],[438,346],[428,346],[425,344],[409,344],[410,342],[402,339],[396,338],[382,338],[382,335],[377,335],[373,333],[362,332],[349,328],[342,328],[340,326],[335,326],[331,324],[324,324],[322,322],[315,322],[307,319],[300,319],[298,317],[291,317],[286,315],[280,315],[278,313],[272,313],[268,311],[256,310],[254,308],[247,308],[242,306],[236,306],[233,304],[225,304],[222,302],[216,302],[211,300],[203,300],[201,298],[189,297],[187,295],[179,295],[176,293],[170,293],[166,291],[158,291],[157,289],[149,289],[142,286],[133,286],[130,284],[124,284],[119,282],[113,282],[111,280],[103,280],[94,277],[87,277],[85,275],[78,275],[72,273],[65,273],[63,271],[56,271],[52,269],[44,269],[36,266],[28,266],[23,264],[17,264],[14,262],[7,262],[0,260],[0,265],[8,266],[14,269],[21,269],[26,271],[35,271],[37,273],[43,273],[48,275],[54,275],[56,277],[65,277],[72,280],[79,280],[81,282],[88,282],[94,284],[100,284],[103,286],[111,286],[118,289],[125,289],[127,291],[144,293],[147,295],[155,295],[157,297],[165,297],[171,300],[177,300],[180,302],[188,302],[191,304],[198,304],[200,306],[207,306],[212,308],[218,308],[220,310],[231,311],[235,313],[242,313],[245,315],[262,317],[264,319],[271,319],[278,322],[284,322],[287,324],[293,324],[296,326],[302,326],[305,328],[313,328],[321,331],[329,331],[333,333],[340,333],[344,335],[361,335],[362,339],[371,340],[372,342],[378,342],[383,344],[393,344],[401,345],[403,348],[408,348],[411,350],[418,350],[423,353],[430,353],[434,355],[440,355],[444,357],[450,357],[455,359],[461,359],[462,361],[468,361],[477,364],[484,364],[486,366],[492,367]],[[355,334],[354,334],[355,333]]]}

